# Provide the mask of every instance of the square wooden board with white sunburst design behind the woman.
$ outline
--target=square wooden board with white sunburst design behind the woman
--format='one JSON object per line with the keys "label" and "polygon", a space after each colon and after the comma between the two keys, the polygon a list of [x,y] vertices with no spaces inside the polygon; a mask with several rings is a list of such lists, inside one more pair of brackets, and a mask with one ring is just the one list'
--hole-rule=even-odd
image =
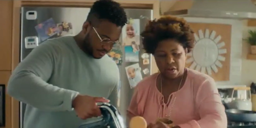
{"label": "square wooden board with white sunburst design behind the woman", "polygon": [[208,74],[216,81],[228,81],[230,71],[231,25],[189,23],[195,32],[195,48],[186,67]]}

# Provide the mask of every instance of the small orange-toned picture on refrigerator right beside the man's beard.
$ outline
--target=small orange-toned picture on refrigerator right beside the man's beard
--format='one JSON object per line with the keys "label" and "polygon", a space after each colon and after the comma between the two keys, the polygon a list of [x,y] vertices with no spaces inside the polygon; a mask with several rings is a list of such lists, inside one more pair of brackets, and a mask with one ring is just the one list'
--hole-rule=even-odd
{"label": "small orange-toned picture on refrigerator right beside the man's beard", "polygon": [[122,64],[122,51],[120,49],[113,48],[109,53],[108,56],[111,57],[117,65]]}

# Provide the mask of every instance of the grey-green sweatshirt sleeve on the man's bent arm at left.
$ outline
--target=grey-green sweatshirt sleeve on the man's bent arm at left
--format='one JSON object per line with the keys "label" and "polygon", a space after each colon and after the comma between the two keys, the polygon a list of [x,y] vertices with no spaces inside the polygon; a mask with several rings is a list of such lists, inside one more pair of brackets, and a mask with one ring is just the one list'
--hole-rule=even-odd
{"label": "grey-green sweatshirt sleeve on the man's bent arm at left", "polygon": [[56,47],[50,40],[33,49],[13,71],[7,93],[44,111],[72,111],[72,100],[78,92],[47,83],[56,58]]}

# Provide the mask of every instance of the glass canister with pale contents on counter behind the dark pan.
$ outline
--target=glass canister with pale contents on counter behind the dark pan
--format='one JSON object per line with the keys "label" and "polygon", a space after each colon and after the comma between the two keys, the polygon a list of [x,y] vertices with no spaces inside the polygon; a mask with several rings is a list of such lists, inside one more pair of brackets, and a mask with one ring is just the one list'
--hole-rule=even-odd
{"label": "glass canister with pale contents on counter behind the dark pan", "polygon": [[[240,97],[234,98],[234,91],[245,91],[245,95],[242,94]],[[248,96],[246,96],[248,94]],[[251,111],[252,110],[252,103],[251,103],[251,93],[250,93],[250,87],[235,87],[232,92],[232,101],[229,103],[226,103],[227,107],[229,109],[238,109],[238,110],[246,110]]]}

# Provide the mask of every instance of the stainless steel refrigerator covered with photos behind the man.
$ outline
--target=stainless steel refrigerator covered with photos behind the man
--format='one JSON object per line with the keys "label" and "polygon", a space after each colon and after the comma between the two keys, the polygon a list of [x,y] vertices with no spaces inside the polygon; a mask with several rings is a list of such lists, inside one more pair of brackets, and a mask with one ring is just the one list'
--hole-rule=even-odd
{"label": "stainless steel refrigerator covered with photos behind the man", "polygon": [[[86,21],[90,8],[60,8],[60,7],[23,7],[21,11],[21,32],[20,32],[20,61],[33,50],[33,48],[40,45],[48,38],[55,38],[59,36],[76,35],[81,31],[84,21]],[[118,110],[126,120],[126,109],[131,101],[134,86],[132,75],[129,74],[131,68],[134,66],[134,70],[140,77],[145,77],[151,74],[151,55],[143,54],[141,38],[139,33],[144,29],[148,19],[152,19],[153,10],[150,9],[125,9],[127,18],[129,18],[129,24],[133,24],[136,30],[132,32],[136,36],[135,41],[139,43],[131,42],[125,43],[126,45],[115,46],[113,51],[109,53],[110,57],[116,61],[120,71],[120,91],[119,91],[119,105]],[[136,25],[135,25],[136,23]],[[44,32],[46,29],[44,26],[48,26],[51,29]],[[120,37],[120,41],[127,41],[124,37],[128,34],[131,28],[125,26]],[[135,38],[135,37],[133,37]],[[132,39],[133,40],[133,39]],[[131,41],[128,39],[128,41]],[[131,58],[130,54],[125,50],[129,50],[130,47],[136,48],[134,52],[137,55],[135,59]],[[129,48],[128,48],[129,47]],[[119,51],[119,52],[118,52]],[[130,58],[129,58],[130,56]],[[129,81],[130,80],[130,81]],[[137,79],[138,81],[138,79]],[[23,117],[26,109],[26,104],[20,102],[20,127],[23,127]]]}

